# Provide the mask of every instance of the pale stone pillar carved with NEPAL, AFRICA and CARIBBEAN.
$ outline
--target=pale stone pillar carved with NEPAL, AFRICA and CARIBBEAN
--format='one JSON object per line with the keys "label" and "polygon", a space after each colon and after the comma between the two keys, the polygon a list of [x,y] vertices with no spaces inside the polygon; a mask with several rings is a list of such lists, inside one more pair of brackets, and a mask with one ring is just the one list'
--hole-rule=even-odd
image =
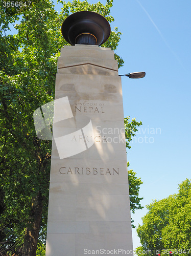
{"label": "pale stone pillar carved with NEPAL, AFRICA and CARIBBEAN", "polygon": [[110,48],[61,49],[53,134],[46,256],[132,254],[122,84]]}

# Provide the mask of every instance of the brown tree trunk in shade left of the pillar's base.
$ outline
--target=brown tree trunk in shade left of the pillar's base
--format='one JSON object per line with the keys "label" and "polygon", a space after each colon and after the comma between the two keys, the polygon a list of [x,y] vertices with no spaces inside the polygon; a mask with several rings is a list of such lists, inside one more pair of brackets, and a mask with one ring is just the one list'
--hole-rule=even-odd
{"label": "brown tree trunk in shade left of the pillar's base", "polygon": [[42,218],[42,196],[40,193],[32,200],[32,217],[25,232],[22,256],[36,256],[38,235]]}

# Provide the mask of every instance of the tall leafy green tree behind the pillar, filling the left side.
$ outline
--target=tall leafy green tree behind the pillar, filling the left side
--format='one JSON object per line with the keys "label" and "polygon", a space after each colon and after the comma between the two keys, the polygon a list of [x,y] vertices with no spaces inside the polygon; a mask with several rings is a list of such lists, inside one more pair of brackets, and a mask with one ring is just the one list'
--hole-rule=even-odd
{"label": "tall leafy green tree behind the pillar, filling the left side", "polygon": [[[67,45],[61,35],[61,24],[70,13],[81,10],[98,12],[110,23],[114,20],[110,16],[112,0],[107,0],[105,6],[100,2],[92,5],[87,1],[60,2],[63,4],[60,13],[54,10],[49,0],[36,0],[31,6],[16,7],[6,7],[0,2],[2,254],[36,255],[38,239],[41,242],[38,253],[44,253],[51,141],[36,137],[33,112],[54,99],[57,58],[60,48]],[[19,24],[15,26],[17,33],[8,34],[9,27],[19,18]],[[102,47],[115,51],[120,35],[121,32],[115,28]],[[121,67],[123,59],[116,53],[115,58]],[[135,131],[133,124],[131,129]],[[136,177],[133,173],[130,176],[133,185],[139,183],[134,182]],[[138,185],[132,189],[135,198],[137,189]],[[132,210],[139,207],[135,205],[136,202]]]}

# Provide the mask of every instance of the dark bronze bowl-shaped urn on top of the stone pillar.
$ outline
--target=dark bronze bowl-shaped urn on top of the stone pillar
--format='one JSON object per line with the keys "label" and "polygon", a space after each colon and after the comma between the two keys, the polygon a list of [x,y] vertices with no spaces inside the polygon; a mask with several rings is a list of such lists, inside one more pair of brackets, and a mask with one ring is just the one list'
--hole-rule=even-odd
{"label": "dark bronze bowl-shaped urn on top of the stone pillar", "polygon": [[62,24],[62,35],[70,45],[102,45],[111,33],[106,18],[96,12],[81,11],[69,15]]}

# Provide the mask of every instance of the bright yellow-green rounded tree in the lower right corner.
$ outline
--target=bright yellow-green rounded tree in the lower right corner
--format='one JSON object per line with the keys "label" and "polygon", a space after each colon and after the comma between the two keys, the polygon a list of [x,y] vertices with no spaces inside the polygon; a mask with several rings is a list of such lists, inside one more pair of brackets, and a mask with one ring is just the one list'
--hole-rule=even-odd
{"label": "bright yellow-green rounded tree in the lower right corner", "polygon": [[147,206],[148,214],[142,218],[137,234],[142,248],[137,250],[160,250],[161,255],[166,249],[177,255],[190,255],[191,246],[191,180],[186,179],[179,185],[178,194],[153,201]]}

